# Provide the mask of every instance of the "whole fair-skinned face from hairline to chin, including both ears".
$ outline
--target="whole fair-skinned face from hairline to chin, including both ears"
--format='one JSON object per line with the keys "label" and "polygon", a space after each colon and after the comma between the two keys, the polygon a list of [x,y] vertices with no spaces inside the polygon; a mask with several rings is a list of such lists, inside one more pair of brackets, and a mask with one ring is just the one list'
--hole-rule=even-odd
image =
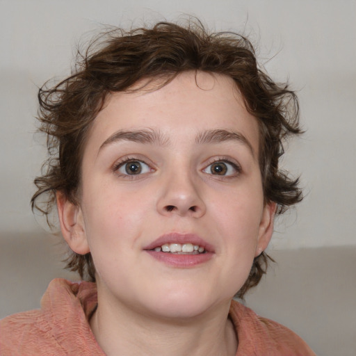
{"label": "whole fair-skinned face from hairline to chin, including both ears", "polygon": [[99,298],[165,317],[228,305],[273,229],[258,152],[257,120],[225,76],[111,95],[88,135],[80,207],[58,203]]}

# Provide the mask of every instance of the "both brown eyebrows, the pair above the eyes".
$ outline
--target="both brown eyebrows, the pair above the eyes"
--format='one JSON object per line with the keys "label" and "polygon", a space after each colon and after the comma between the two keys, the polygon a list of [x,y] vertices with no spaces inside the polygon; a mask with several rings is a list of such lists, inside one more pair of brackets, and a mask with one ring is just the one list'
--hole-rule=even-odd
{"label": "both brown eyebrows, the pair above the eyes", "polygon": [[[112,143],[120,142],[121,140],[150,145],[155,144],[162,147],[168,145],[169,143],[169,139],[166,138],[163,133],[154,129],[142,129],[134,131],[120,130],[116,131],[115,133],[113,133],[113,135],[108,137],[100,146],[99,151],[103,147],[111,145]],[[197,143],[197,145],[208,145],[213,143],[223,143],[227,141],[237,141],[238,143],[242,143],[243,145],[248,147],[252,156],[255,156],[254,149],[250,141],[240,132],[234,132],[225,129],[207,130],[198,133],[197,137],[195,138],[195,143]]]}

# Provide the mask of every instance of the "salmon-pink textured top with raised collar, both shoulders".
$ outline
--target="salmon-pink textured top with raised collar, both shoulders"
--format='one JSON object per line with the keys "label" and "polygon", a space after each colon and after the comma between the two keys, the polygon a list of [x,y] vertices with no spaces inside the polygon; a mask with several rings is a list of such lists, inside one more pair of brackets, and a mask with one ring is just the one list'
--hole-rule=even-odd
{"label": "salmon-pink textured top with raised collar, both shoulders", "polygon": [[[53,280],[40,310],[0,321],[0,355],[104,356],[88,323],[96,305],[94,283]],[[238,302],[232,302],[229,315],[238,335],[236,356],[315,355],[291,330],[257,316]]]}

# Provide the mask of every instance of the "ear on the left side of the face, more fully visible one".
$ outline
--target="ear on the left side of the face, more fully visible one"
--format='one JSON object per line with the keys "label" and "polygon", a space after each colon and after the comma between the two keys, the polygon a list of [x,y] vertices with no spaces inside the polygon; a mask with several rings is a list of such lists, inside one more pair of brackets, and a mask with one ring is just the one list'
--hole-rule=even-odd
{"label": "ear on the left side of the face, more fully visible one", "polygon": [[56,192],[60,229],[67,244],[77,254],[90,252],[81,207],[70,202],[60,191]]}

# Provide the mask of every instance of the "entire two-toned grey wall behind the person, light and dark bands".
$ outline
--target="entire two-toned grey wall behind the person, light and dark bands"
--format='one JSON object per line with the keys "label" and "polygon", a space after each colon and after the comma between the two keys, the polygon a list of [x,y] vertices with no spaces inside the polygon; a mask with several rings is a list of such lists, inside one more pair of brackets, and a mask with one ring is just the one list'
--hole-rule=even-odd
{"label": "entire two-toned grey wall behind the person, light and dark bands", "polygon": [[[0,0],[0,317],[38,307],[61,272],[56,238],[29,200],[45,152],[35,135],[36,93],[70,72],[74,46],[102,24],[197,15],[244,32],[275,78],[299,91],[305,136],[283,165],[306,197],[278,219],[278,265],[247,298],[296,330],[318,355],[356,354],[356,1]],[[83,35],[84,34],[84,35]]]}

